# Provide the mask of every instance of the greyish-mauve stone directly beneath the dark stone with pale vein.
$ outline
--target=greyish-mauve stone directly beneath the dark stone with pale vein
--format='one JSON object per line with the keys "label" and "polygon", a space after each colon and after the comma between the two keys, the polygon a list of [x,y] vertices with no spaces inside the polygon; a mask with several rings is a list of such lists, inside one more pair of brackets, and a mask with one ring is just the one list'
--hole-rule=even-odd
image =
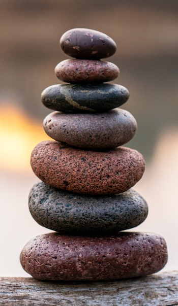
{"label": "greyish-mauve stone directly beneath the dark stone with pale vein", "polygon": [[122,109],[97,114],[53,112],[43,121],[49,137],[84,149],[107,149],[126,144],[137,131],[135,118]]}

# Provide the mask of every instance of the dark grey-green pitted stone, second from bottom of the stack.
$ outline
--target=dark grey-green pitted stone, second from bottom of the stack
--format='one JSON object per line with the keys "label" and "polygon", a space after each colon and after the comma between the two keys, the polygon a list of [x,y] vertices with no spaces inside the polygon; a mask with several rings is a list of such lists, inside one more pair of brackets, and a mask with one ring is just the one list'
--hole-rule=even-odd
{"label": "dark grey-green pitted stone, second from bottom of the stack", "polygon": [[147,203],[134,190],[105,196],[86,196],[51,187],[44,182],[29,193],[29,211],[49,229],[103,234],[135,227],[147,217]]}

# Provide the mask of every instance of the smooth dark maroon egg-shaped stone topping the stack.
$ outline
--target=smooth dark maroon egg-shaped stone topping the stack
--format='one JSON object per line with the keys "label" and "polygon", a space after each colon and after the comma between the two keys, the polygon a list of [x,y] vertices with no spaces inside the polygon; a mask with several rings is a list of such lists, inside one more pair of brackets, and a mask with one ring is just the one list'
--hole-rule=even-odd
{"label": "smooth dark maroon egg-shaped stone topping the stack", "polygon": [[74,28],[63,34],[62,50],[71,57],[100,59],[113,55],[115,42],[106,34],[86,28]]}

